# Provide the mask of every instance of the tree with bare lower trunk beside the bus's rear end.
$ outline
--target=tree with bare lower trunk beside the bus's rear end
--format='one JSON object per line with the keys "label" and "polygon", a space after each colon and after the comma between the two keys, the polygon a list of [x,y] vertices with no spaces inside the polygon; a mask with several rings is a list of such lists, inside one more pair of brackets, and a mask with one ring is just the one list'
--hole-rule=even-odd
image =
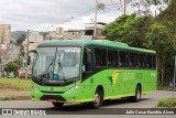
{"label": "tree with bare lower trunk beside the bus's rear end", "polygon": [[164,79],[166,79],[166,66],[168,62],[172,62],[174,53],[172,36],[165,25],[154,23],[146,33],[146,39],[148,40],[148,46],[157,53],[158,82],[163,86]]}

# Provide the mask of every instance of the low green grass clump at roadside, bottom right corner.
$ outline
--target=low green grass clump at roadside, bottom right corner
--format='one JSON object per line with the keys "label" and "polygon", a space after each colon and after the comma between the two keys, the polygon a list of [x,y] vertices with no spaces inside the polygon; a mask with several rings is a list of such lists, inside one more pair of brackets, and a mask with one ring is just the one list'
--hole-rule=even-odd
{"label": "low green grass clump at roadside, bottom right corner", "polygon": [[176,107],[176,98],[161,99],[157,107]]}

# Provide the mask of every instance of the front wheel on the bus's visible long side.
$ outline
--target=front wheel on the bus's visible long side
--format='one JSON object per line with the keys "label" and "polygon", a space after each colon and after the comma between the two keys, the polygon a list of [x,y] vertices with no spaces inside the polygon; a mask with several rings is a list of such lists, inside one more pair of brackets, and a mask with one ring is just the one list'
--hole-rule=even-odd
{"label": "front wheel on the bus's visible long side", "polygon": [[102,106],[102,103],[103,103],[102,90],[97,88],[97,90],[95,93],[94,101],[89,103],[89,106],[90,106],[90,108],[97,109],[100,106]]}

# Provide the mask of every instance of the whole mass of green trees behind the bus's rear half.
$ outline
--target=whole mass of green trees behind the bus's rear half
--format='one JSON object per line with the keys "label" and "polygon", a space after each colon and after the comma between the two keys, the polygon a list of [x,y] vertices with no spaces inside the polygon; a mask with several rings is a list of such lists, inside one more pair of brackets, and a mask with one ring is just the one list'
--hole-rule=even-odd
{"label": "whole mass of green trees behind the bus's rear half", "polygon": [[[142,0],[148,6],[160,6],[160,0]],[[147,2],[148,1],[148,2]],[[168,3],[168,1],[165,1]],[[132,1],[129,0],[129,3]],[[123,14],[105,26],[107,39],[128,43],[130,46],[155,50],[157,53],[158,84],[168,85],[174,73],[176,54],[176,1],[154,18],[148,14]]]}

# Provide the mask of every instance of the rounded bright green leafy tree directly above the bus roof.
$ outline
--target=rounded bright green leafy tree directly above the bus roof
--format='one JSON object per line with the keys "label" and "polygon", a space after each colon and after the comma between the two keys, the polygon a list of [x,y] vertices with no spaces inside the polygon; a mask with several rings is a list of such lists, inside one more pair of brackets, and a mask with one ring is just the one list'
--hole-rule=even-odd
{"label": "rounded bright green leafy tree directly above the bus roof", "polygon": [[145,33],[154,22],[151,15],[138,18],[135,14],[121,15],[105,26],[105,34],[110,40],[128,43],[135,47],[145,47]]}

